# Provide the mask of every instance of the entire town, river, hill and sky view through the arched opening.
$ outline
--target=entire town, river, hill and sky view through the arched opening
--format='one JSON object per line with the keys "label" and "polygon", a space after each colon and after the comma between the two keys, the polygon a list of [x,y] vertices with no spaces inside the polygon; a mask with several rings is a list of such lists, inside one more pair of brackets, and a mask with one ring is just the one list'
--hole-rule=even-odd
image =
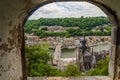
{"label": "entire town, river, hill and sky view through the arched opening", "polygon": [[24,26],[28,76],[108,75],[111,28],[87,2],[39,8]]}

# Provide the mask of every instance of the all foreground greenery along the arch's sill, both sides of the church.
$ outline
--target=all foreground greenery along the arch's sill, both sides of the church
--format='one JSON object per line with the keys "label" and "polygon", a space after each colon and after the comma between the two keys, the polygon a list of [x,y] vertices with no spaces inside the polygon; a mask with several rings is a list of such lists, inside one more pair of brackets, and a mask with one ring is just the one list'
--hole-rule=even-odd
{"label": "all foreground greenery along the arch's sill, both sides of the church", "polygon": [[108,75],[108,62],[100,60],[97,67],[88,71],[87,74],[81,74],[76,65],[68,65],[64,71],[52,66],[52,55],[47,43],[26,46],[27,74],[28,76],[85,76],[85,75]]}

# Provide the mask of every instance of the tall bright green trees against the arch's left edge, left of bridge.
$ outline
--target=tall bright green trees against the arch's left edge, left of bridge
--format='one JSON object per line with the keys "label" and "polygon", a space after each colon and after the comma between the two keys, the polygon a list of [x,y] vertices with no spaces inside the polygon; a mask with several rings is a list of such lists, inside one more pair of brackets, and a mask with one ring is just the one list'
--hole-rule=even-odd
{"label": "tall bright green trees against the arch's left edge, left of bridge", "polygon": [[[52,57],[48,44],[26,46],[27,73],[29,76],[51,76],[55,69],[50,65]],[[54,72],[51,72],[54,71]]]}

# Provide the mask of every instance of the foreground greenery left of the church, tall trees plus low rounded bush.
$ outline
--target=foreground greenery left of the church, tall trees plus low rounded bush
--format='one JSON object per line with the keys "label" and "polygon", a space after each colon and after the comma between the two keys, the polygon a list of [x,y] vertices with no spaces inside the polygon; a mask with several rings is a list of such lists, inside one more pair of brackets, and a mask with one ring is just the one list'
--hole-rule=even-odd
{"label": "foreground greenery left of the church, tall trees plus low rounded bush", "polygon": [[69,65],[65,71],[52,66],[52,56],[46,43],[25,47],[28,76],[77,76],[76,65]]}

